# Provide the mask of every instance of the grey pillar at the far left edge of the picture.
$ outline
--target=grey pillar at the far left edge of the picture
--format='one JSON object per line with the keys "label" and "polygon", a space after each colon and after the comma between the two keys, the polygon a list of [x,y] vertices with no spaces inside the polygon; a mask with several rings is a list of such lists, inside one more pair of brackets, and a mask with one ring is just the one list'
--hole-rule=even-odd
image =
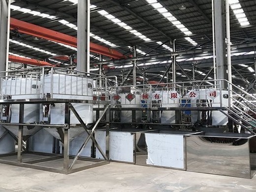
{"label": "grey pillar at the far left edge of the picture", "polygon": [[[0,72],[6,70],[8,39],[8,0],[0,0]],[[5,74],[0,73],[0,76]]]}

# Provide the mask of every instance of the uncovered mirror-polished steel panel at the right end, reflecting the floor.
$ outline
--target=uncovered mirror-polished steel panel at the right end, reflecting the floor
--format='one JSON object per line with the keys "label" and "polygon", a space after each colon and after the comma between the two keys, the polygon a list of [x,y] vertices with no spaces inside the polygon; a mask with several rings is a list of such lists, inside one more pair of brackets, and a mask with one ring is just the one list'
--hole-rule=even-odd
{"label": "uncovered mirror-polished steel panel at the right end, reflecting the floor", "polygon": [[251,178],[248,138],[188,136],[186,150],[188,171]]}

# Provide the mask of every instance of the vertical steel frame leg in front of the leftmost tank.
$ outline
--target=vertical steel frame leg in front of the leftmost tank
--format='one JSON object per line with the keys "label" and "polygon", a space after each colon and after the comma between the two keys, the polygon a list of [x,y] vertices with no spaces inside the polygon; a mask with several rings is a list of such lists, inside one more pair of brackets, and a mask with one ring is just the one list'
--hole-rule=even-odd
{"label": "vertical steel frame leg in front of the leftmost tank", "polygon": [[[24,103],[20,104],[19,111],[19,123],[22,124],[24,120]],[[19,133],[18,133],[18,161],[22,162],[22,141],[23,141],[23,126],[19,125]]]}

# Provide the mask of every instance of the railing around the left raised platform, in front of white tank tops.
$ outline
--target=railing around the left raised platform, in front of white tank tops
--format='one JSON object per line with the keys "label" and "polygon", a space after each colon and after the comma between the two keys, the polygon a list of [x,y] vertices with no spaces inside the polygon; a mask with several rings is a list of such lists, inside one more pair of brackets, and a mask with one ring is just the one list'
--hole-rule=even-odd
{"label": "railing around the left raised platform, in front of white tank tops", "polygon": [[6,98],[107,99],[107,77],[58,67],[33,67],[1,72],[0,96]]}

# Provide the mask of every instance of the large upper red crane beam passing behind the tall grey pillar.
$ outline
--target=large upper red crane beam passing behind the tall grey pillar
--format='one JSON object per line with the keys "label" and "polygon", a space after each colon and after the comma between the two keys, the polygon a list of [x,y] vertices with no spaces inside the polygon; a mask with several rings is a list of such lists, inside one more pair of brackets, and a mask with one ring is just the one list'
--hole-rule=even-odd
{"label": "large upper red crane beam passing behind the tall grey pillar", "polygon": [[[18,19],[11,18],[10,29],[17,29],[21,33],[29,34],[38,38],[47,39],[58,43],[63,43],[72,47],[77,47],[76,37],[39,27],[31,23],[20,21]],[[120,59],[125,57],[123,54],[114,49],[110,49],[92,42],[90,43],[90,51],[113,59]]]}

